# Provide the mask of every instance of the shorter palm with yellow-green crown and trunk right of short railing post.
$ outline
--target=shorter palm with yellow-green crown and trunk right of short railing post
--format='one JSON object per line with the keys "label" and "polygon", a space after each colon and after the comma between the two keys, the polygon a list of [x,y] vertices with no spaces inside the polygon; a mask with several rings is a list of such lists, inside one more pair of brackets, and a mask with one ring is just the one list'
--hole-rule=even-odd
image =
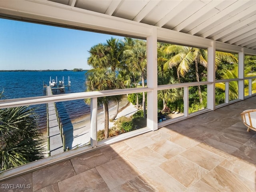
{"label": "shorter palm with yellow-green crown and trunk right of short railing post", "polygon": [[[106,69],[92,69],[87,72],[86,91],[102,91],[123,88],[123,83],[116,77],[116,73]],[[98,106],[103,106],[105,114],[105,129],[104,138],[108,138],[109,132],[109,116],[108,116],[108,103],[120,102],[122,95],[108,96],[98,98]],[[86,99],[85,102],[90,104],[90,99]]]}

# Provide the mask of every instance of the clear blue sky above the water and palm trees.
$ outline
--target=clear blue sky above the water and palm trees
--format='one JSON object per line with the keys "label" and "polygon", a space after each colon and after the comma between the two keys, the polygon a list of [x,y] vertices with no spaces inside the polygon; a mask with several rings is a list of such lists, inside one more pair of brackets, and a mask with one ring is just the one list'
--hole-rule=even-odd
{"label": "clear blue sky above the water and palm trees", "polygon": [[88,50],[120,36],[0,19],[0,70],[90,69]]}

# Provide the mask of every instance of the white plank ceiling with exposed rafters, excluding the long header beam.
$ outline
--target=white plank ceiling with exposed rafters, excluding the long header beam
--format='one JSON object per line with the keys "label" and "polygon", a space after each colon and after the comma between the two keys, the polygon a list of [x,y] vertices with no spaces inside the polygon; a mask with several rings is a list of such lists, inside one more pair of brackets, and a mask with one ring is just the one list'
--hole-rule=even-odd
{"label": "white plank ceiling with exposed rafters, excluding the long header beam", "polygon": [[256,50],[256,0],[51,0]]}

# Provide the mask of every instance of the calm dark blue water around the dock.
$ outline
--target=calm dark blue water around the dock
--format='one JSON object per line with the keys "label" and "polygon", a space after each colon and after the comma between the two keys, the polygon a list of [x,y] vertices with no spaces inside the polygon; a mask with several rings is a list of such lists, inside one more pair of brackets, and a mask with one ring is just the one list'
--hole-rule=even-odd
{"label": "calm dark blue water around the dock", "polygon": [[[70,90],[66,87],[64,93],[54,94],[67,94],[75,92],[84,92],[86,72],[72,72],[72,71],[53,71],[53,72],[0,72],[0,92],[4,90],[4,98],[24,98],[45,96],[46,91],[43,90],[44,84],[49,85],[51,79],[62,80],[64,76],[64,83],[68,84],[68,76],[70,77],[71,87]],[[70,119],[77,118],[82,114],[88,114],[90,107],[84,103],[84,100],[73,100],[56,103],[62,124],[69,123]],[[40,117],[40,126],[46,126],[46,104],[36,105],[36,109]]]}

